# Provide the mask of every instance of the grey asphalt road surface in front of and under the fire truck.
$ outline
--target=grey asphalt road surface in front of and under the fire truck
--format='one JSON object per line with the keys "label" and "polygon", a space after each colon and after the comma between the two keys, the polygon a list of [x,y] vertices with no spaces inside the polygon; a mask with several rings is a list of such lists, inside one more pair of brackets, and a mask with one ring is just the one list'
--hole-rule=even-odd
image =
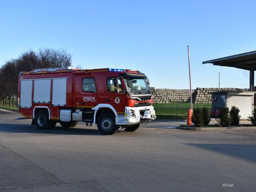
{"label": "grey asphalt road surface in front of and under the fire truck", "polygon": [[183,131],[175,129],[180,121],[166,121],[101,135],[83,124],[38,130],[15,117],[0,109],[0,191],[256,189],[256,128]]}

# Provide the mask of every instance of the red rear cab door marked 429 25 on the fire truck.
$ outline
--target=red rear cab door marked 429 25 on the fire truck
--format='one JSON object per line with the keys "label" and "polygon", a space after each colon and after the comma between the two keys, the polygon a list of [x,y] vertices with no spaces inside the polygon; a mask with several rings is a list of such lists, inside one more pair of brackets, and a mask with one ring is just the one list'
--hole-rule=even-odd
{"label": "red rear cab door marked 429 25 on the fire truck", "polygon": [[98,91],[93,77],[80,77],[80,96],[76,100],[76,107],[93,108],[98,104]]}

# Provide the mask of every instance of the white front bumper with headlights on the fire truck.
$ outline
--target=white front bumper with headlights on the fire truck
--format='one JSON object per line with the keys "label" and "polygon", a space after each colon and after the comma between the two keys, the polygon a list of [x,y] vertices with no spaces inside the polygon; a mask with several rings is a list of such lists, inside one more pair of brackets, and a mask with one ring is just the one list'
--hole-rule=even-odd
{"label": "white front bumper with headlights on the fire truck", "polygon": [[135,125],[154,120],[156,116],[153,106],[125,107],[124,119],[121,118],[116,121],[119,125]]}

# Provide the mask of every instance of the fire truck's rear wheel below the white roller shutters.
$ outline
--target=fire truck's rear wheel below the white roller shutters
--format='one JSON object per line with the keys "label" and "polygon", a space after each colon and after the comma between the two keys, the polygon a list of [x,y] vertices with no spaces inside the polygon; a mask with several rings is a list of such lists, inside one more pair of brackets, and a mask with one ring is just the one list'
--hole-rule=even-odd
{"label": "fire truck's rear wheel below the white roller shutters", "polygon": [[56,125],[55,120],[50,120],[46,111],[38,111],[35,123],[38,129],[53,129]]}

